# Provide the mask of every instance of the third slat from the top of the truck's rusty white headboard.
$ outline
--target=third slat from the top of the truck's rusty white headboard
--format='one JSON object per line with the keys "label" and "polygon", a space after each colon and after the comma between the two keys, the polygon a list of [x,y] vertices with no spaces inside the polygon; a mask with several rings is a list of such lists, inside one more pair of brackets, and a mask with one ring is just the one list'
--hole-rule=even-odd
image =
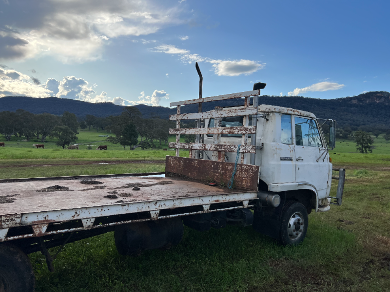
{"label": "third slat from the top of the truck's rusty white headboard", "polygon": [[256,126],[248,127],[221,127],[221,128],[179,128],[169,129],[169,133],[175,134],[253,134],[256,132]]}

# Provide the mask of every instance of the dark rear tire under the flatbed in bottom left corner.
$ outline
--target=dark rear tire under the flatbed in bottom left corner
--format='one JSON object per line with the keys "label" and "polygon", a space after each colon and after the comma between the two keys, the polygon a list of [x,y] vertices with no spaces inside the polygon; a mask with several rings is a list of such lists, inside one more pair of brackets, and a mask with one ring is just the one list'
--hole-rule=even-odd
{"label": "dark rear tire under the flatbed in bottom left corner", "polygon": [[0,244],[0,292],[34,292],[30,260],[12,244]]}

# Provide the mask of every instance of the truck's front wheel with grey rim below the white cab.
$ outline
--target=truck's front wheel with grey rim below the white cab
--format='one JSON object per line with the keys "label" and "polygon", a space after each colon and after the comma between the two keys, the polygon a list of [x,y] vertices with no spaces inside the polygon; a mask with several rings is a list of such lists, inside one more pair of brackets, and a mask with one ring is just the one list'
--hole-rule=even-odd
{"label": "truck's front wheel with grey rim below the white cab", "polygon": [[308,230],[309,217],[306,207],[296,201],[286,202],[280,221],[279,243],[298,245]]}

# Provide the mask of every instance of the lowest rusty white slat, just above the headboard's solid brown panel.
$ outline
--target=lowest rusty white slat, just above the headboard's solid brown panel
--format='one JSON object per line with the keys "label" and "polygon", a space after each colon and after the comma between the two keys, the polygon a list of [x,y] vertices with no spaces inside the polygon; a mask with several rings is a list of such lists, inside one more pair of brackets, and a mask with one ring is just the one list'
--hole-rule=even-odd
{"label": "lowest rusty white slat, just above the headboard's solid brown panel", "polygon": [[[238,145],[227,144],[198,144],[198,143],[168,143],[170,148],[180,148],[188,150],[203,150],[203,151],[225,151],[225,152],[237,152]],[[240,153],[256,153],[256,146],[254,145],[241,145]]]}

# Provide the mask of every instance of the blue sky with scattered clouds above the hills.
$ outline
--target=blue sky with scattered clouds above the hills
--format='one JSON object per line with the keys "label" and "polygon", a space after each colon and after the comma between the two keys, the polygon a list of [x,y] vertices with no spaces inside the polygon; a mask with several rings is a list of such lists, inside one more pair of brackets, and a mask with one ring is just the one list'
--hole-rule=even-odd
{"label": "blue sky with scattered clouds above the hills", "polygon": [[168,107],[390,91],[390,2],[0,0],[0,97]]}

